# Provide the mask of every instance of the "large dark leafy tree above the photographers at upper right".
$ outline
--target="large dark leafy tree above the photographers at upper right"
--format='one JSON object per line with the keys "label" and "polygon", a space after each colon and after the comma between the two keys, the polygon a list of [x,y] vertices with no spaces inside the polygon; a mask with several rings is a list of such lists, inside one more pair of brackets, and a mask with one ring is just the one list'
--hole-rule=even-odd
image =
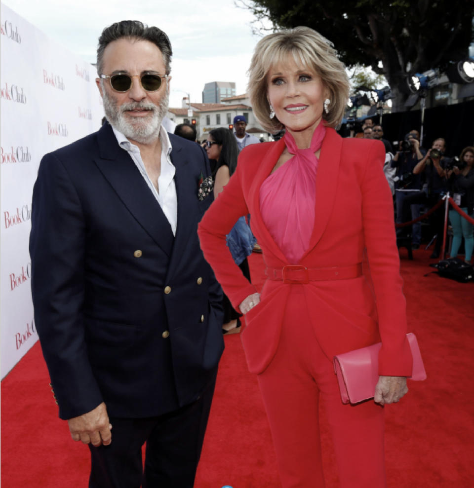
{"label": "large dark leafy tree above the photographers at upper right", "polygon": [[348,67],[385,75],[394,111],[408,96],[406,78],[468,57],[474,0],[237,0],[272,30],[311,27],[334,43]]}

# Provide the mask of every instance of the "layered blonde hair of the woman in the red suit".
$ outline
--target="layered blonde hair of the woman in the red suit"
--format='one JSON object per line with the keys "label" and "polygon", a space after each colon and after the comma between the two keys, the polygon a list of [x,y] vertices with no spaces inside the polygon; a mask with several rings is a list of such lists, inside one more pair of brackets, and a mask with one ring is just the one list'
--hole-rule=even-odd
{"label": "layered blonde hair of the woman in the red suit", "polygon": [[329,113],[323,113],[324,125],[336,127],[341,123],[349,99],[349,79],[344,64],[326,38],[309,27],[295,27],[260,39],[255,46],[248,70],[248,94],[253,113],[268,132],[275,134],[284,126],[270,118],[267,99],[267,75],[271,67],[293,56],[297,65],[311,68],[320,76],[329,92]]}

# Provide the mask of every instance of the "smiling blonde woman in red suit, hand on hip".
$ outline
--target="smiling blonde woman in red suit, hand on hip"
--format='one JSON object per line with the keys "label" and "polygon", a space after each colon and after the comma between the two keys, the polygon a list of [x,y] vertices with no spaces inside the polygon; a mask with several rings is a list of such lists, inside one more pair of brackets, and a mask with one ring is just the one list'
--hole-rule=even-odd
{"label": "smiling blonde woman in red suit, hand on hip", "polygon": [[[286,133],[240,152],[237,171],[199,225],[201,247],[245,314],[242,342],[282,486],[324,486],[320,400],[340,486],[385,487],[383,405],[407,392],[412,368],[385,149],[334,130],[349,82],[335,50],[312,29],[261,39],[249,73],[255,115],[269,132]],[[226,248],[226,234],[247,213],[267,266],[261,295]],[[380,340],[374,401],[343,405],[333,356]]]}

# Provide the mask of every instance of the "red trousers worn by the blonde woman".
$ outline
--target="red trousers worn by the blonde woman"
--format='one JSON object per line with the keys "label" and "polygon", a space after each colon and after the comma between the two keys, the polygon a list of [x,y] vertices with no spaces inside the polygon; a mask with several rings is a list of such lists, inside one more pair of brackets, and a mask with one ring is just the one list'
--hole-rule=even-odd
{"label": "red trousers worn by the blonde woman", "polygon": [[[285,310],[276,356],[258,381],[283,488],[324,487],[319,399],[334,441],[341,488],[383,488],[384,409],[373,400],[344,405],[332,361],[310,325],[301,285]],[[331,324],[321,324],[321,327]]]}

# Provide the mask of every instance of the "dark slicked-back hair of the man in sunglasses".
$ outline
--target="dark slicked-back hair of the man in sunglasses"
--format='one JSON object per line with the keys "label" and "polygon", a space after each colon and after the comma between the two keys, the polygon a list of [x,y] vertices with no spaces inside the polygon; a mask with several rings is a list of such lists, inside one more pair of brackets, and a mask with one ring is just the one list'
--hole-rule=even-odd
{"label": "dark slicked-back hair of the man in sunglasses", "polygon": [[106,27],[99,38],[97,46],[97,73],[102,75],[104,50],[108,44],[121,38],[148,40],[153,42],[163,55],[163,62],[166,69],[165,75],[170,73],[171,44],[168,36],[158,27],[148,27],[138,20],[122,20]]}

